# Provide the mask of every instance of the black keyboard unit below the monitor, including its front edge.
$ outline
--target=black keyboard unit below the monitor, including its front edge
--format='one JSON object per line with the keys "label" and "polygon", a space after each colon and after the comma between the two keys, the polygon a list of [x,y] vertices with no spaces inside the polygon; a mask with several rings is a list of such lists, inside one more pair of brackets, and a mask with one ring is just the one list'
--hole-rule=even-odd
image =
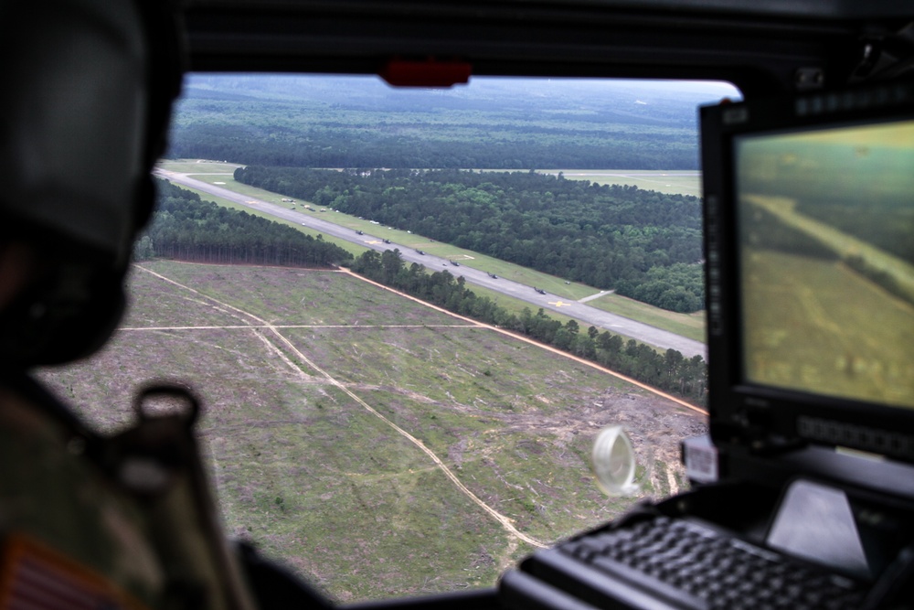
{"label": "black keyboard unit below the monitor, including its front edge", "polygon": [[517,607],[856,610],[868,586],[691,519],[653,517],[537,551],[508,573]]}

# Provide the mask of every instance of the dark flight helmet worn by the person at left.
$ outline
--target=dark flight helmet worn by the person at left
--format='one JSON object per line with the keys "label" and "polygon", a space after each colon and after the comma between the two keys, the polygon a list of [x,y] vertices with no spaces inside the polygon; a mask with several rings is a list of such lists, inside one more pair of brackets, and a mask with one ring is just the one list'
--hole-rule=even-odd
{"label": "dark flight helmet worn by the person at left", "polygon": [[162,0],[0,0],[0,247],[37,273],[0,309],[0,364],[79,358],[123,310],[180,90],[177,12]]}

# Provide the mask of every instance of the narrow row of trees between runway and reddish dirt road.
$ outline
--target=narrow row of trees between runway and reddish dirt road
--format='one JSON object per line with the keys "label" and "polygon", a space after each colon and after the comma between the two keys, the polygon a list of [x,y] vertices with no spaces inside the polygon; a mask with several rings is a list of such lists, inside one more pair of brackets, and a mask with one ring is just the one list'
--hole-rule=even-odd
{"label": "narrow row of trees between runway and reddish dirt road", "polygon": [[352,270],[455,314],[513,330],[689,401],[706,400],[707,366],[701,356],[686,359],[675,349],[660,354],[634,339],[625,341],[608,331],[600,332],[596,326],[582,331],[574,320],[563,325],[542,308],[534,314],[525,307],[517,316],[489,297],[474,294],[462,277],[454,278],[447,271],[429,274],[415,262],[407,266],[399,250],[367,251],[356,257]]}

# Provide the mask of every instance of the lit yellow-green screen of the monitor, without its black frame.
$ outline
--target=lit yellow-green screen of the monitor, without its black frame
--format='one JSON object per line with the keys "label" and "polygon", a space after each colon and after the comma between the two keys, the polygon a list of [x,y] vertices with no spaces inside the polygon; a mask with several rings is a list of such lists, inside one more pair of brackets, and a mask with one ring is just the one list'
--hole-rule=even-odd
{"label": "lit yellow-green screen of the monitor, without its black frame", "polygon": [[745,380],[914,407],[914,120],[733,149]]}

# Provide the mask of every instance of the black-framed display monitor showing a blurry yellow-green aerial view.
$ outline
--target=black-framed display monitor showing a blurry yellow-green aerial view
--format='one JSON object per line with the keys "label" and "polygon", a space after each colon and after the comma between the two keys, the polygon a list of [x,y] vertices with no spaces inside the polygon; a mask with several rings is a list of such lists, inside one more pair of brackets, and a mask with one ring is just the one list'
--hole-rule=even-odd
{"label": "black-framed display monitor showing a blurry yellow-green aerial view", "polygon": [[914,93],[702,109],[718,442],[914,462]]}

